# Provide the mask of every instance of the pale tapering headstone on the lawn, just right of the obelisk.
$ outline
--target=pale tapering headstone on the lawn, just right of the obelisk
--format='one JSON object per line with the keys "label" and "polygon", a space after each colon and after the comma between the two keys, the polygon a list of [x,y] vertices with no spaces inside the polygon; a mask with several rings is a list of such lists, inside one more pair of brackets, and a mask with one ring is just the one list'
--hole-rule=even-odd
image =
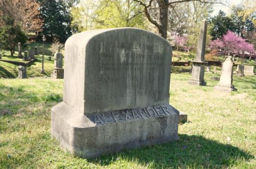
{"label": "pale tapering headstone on the lawn, just right of the obelisk", "polygon": [[214,89],[224,92],[237,90],[233,85],[233,60],[231,56],[226,56],[222,62],[220,82],[214,86]]}

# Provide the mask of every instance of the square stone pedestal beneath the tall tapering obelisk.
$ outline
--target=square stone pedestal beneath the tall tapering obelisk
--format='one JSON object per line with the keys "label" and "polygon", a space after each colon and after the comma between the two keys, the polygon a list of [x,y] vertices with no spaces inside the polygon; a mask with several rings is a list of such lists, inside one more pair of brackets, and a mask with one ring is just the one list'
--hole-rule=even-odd
{"label": "square stone pedestal beneath the tall tapering obelisk", "polygon": [[207,62],[204,61],[192,61],[192,73],[191,79],[188,81],[191,85],[198,86],[206,86],[206,82],[204,81],[204,67]]}

